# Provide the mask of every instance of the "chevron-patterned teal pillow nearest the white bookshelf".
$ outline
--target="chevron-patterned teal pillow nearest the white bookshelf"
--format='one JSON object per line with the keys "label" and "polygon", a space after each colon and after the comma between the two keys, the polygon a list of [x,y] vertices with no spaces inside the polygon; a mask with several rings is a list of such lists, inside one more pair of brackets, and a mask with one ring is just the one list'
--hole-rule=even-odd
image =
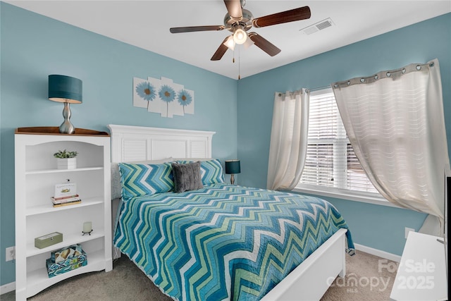
{"label": "chevron-patterned teal pillow nearest the white bookshelf", "polygon": [[141,197],[173,190],[171,164],[119,163],[122,197]]}

